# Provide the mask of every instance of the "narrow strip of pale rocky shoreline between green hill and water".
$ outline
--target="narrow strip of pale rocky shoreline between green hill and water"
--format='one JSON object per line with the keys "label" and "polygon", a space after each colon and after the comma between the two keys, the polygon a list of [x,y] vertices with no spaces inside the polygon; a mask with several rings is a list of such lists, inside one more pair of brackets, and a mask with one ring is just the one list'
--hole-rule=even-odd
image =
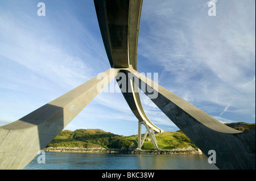
{"label": "narrow strip of pale rocky shoreline between green hill and water", "polygon": [[127,153],[127,154],[202,154],[200,149],[181,148],[170,150],[105,149],[105,148],[44,148],[44,151],[63,153]]}

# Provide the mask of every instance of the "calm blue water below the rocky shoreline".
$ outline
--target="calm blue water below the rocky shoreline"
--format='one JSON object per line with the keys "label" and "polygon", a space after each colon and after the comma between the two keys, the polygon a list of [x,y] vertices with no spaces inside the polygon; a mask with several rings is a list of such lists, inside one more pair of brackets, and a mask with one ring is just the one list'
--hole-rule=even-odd
{"label": "calm blue water below the rocky shoreline", "polygon": [[216,170],[203,154],[94,154],[46,152],[46,163],[35,157],[25,170]]}

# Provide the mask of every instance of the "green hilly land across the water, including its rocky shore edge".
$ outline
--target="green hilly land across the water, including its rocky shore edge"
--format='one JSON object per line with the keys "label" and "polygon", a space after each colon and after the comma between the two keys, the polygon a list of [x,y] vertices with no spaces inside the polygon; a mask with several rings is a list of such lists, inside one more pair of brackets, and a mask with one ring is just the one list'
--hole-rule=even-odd
{"label": "green hilly land across the water, including its rocky shore edge", "polygon": [[[229,127],[247,131],[255,127],[249,123],[229,123]],[[61,131],[44,151],[70,153],[129,153],[129,154],[201,154],[201,150],[181,131],[155,133],[159,149],[147,136],[141,150],[136,149],[138,135],[122,136],[101,129]]]}

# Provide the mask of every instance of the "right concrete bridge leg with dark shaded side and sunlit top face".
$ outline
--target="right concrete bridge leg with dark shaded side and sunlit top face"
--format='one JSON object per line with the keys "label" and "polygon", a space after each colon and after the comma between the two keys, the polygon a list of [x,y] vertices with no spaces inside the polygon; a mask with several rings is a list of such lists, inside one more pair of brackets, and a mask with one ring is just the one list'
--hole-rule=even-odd
{"label": "right concrete bridge leg with dark shaded side and sunlit top face", "polygon": [[[137,72],[132,70],[133,72]],[[137,72],[138,73],[138,72]],[[143,82],[137,77],[138,87]],[[153,88],[153,87],[152,87]],[[161,111],[210,157],[216,151],[219,169],[255,170],[255,127],[246,132],[230,128],[192,104],[158,85],[158,97],[151,99]],[[144,92],[148,96],[148,92]]]}

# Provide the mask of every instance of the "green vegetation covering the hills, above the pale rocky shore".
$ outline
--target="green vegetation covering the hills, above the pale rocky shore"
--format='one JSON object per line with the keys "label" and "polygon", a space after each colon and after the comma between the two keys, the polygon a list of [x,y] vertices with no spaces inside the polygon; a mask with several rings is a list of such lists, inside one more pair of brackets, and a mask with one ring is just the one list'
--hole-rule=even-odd
{"label": "green vegetation covering the hills, above the pale rocky shore", "polygon": [[[255,124],[248,123],[229,123],[226,125],[240,131],[247,131],[255,127]],[[160,149],[197,148],[181,131],[155,133],[155,137]],[[76,131],[61,131],[46,147],[135,149],[137,145],[138,135],[125,137],[101,129],[77,129]],[[146,137],[142,149],[155,149],[150,136]]]}

